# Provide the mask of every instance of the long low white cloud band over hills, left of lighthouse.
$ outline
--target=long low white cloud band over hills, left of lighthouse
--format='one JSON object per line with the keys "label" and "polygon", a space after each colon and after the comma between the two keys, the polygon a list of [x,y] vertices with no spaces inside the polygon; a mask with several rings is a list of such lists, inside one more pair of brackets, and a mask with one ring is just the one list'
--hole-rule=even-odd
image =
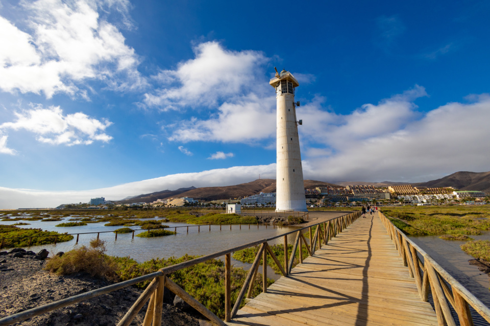
{"label": "long low white cloud band over hills, left of lighthouse", "polygon": [[196,173],[180,173],[87,191],[48,192],[0,187],[0,208],[56,207],[66,203],[88,202],[90,198],[100,196],[105,197],[107,200],[120,200],[128,196],[153,193],[162,189],[178,189],[190,186],[223,186],[250,182],[258,179],[259,174],[262,178],[275,178],[276,165],[232,167]]}

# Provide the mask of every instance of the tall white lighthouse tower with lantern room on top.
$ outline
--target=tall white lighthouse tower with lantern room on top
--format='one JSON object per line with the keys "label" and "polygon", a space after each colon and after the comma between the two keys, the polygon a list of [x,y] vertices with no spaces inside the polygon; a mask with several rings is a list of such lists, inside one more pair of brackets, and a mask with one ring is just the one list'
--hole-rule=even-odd
{"label": "tall white lighthouse tower with lantern room on top", "polygon": [[[274,69],[276,69],[274,67]],[[276,210],[307,211],[300,140],[296,120],[295,89],[300,84],[286,70],[277,72],[269,84],[277,99],[277,186]]]}

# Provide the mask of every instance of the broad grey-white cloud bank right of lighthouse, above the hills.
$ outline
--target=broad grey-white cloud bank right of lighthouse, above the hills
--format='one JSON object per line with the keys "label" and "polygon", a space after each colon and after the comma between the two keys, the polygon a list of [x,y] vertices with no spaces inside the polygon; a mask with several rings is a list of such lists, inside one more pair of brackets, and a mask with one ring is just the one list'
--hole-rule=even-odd
{"label": "broad grey-white cloud bank right of lighthouse, above the hills", "polygon": [[309,160],[309,176],[333,181],[415,182],[457,171],[489,171],[490,142],[486,140],[490,129],[486,124],[490,95],[471,99],[473,102],[442,105],[393,131],[349,142],[333,141],[332,155]]}

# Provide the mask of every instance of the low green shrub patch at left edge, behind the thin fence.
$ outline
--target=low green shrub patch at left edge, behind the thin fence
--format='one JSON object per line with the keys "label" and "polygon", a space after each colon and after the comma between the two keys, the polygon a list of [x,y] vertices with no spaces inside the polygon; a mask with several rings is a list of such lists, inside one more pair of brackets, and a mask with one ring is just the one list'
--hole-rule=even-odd
{"label": "low green shrub patch at left edge, behind the thin fence", "polygon": [[56,236],[58,236],[58,238],[56,239],[57,242],[65,242],[73,239],[73,236],[71,235],[61,234],[56,231],[42,231],[41,229],[23,229],[13,225],[0,225],[0,238],[21,237],[18,239],[5,239],[3,248],[28,247],[29,239],[31,239],[31,246],[54,243]]}

